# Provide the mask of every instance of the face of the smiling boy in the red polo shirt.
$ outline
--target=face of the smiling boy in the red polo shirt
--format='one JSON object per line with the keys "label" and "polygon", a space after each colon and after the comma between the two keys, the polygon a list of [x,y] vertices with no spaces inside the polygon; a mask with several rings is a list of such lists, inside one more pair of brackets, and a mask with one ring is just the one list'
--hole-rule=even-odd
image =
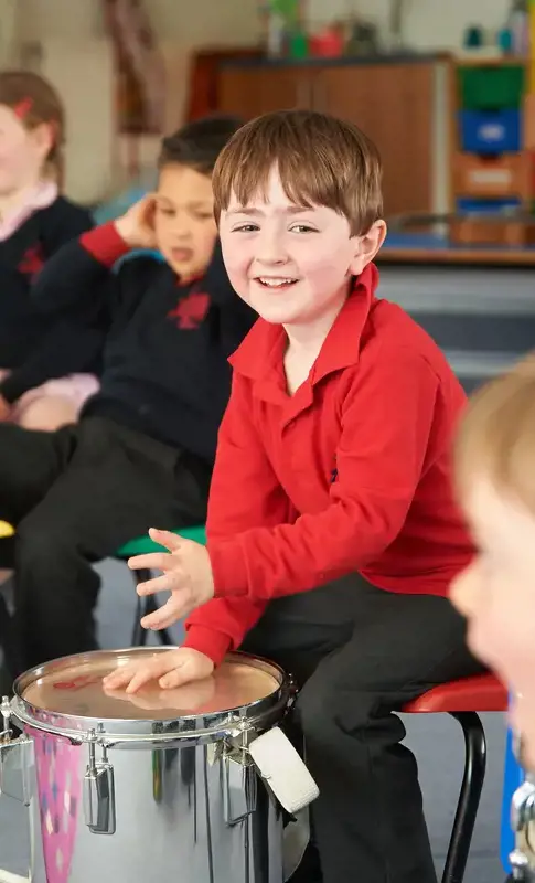
{"label": "face of the smiling boy in the red polo shirt", "polygon": [[268,322],[309,325],[335,315],[350,277],[362,273],[384,238],[384,224],[351,236],[346,217],[324,205],[292,203],[277,169],[266,199],[240,205],[233,194],[222,212],[220,236],[231,283]]}

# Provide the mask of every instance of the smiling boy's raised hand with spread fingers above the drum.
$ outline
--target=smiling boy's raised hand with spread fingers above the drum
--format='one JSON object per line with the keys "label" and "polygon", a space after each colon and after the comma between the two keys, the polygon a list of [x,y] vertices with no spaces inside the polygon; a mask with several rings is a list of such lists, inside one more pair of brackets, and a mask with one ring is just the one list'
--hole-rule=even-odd
{"label": "smiling boy's raised hand with spread fingers above the drum", "polygon": [[189,613],[206,604],[214,597],[214,577],[207,550],[192,540],[183,540],[170,531],[151,529],[149,536],[169,550],[152,552],[149,555],[136,555],[128,566],[132,571],[142,568],[163,571],[162,576],[140,583],[138,595],[156,595],[158,592],[170,592],[171,597],[163,607],[141,619],[143,628],[169,628]]}

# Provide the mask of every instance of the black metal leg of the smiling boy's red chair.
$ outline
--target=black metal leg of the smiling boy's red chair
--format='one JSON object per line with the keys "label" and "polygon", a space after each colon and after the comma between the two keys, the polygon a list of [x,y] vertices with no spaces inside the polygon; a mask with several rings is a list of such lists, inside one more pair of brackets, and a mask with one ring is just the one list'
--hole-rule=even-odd
{"label": "black metal leg of the smiling boy's red chair", "polygon": [[462,883],[472,842],[475,817],[486,768],[486,740],[481,719],[473,711],[450,712],[464,735],[464,775],[446,857],[442,883]]}

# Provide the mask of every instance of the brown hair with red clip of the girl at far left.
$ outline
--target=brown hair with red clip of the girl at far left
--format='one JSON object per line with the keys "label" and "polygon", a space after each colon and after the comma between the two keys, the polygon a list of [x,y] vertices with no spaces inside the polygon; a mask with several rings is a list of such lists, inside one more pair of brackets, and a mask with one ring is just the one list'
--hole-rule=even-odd
{"label": "brown hair with red clip of the girl at far left", "polygon": [[61,187],[64,178],[65,111],[55,88],[33,71],[1,71],[1,104],[11,107],[29,130],[43,123],[51,126],[53,142],[43,172]]}

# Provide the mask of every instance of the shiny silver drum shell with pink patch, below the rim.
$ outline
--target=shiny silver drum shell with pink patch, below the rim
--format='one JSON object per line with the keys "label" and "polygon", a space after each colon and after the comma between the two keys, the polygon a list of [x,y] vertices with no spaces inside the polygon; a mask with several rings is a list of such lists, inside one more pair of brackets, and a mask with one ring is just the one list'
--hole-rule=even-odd
{"label": "shiny silver drum shell with pink patch, below the rim", "polygon": [[[42,731],[31,736],[36,786],[31,818],[35,841],[43,843],[47,883],[281,883],[281,811],[254,767],[229,759],[221,743],[111,748],[114,830],[95,833],[84,805],[87,746]],[[63,815],[47,818],[43,798],[54,752]]]}

